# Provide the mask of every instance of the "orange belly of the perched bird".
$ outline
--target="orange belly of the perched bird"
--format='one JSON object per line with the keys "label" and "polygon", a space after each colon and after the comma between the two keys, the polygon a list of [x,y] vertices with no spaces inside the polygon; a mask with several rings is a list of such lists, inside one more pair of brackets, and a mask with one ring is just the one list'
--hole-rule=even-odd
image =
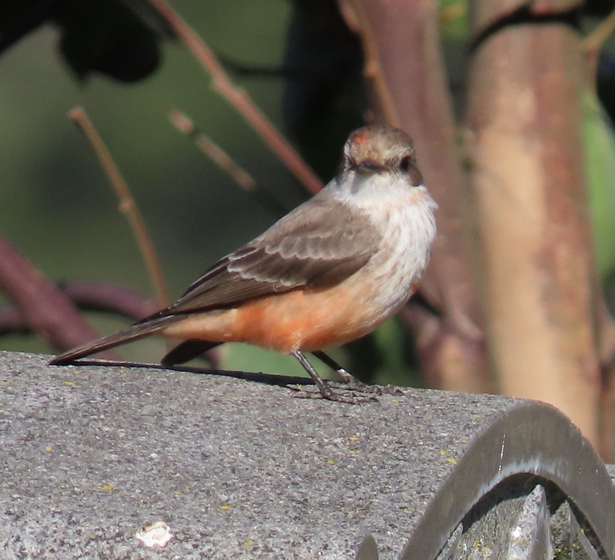
{"label": "orange belly of the perched bird", "polygon": [[[288,354],[343,344],[373,330],[387,316],[362,282],[297,290],[195,313],[164,329],[170,338],[246,342]],[[371,292],[371,290],[367,290]]]}

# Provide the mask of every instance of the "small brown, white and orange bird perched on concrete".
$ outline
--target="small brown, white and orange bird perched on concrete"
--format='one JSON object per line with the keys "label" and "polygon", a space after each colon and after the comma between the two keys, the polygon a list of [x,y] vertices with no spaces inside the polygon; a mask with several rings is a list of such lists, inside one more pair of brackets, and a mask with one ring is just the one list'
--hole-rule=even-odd
{"label": "small brown, white and orange bird perched on concrete", "polygon": [[49,363],[149,335],[181,341],[162,358],[165,367],[244,342],[298,359],[319,389],[313,397],[355,402],[333,391],[304,354],[354,379],[323,349],[371,332],[416,292],[437,235],[436,208],[410,136],[363,126],[320,192],[218,260],[175,303]]}

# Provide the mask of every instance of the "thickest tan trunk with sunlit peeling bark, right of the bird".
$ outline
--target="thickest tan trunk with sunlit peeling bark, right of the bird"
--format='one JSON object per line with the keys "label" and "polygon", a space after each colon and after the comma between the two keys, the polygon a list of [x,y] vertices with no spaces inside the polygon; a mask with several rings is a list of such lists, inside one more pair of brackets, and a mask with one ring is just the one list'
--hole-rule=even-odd
{"label": "thickest tan trunk with sunlit peeling bark, right of the bird", "polygon": [[467,126],[490,349],[501,391],[552,403],[598,449],[601,376],[582,138],[584,64],[581,37],[568,26],[502,29],[472,59]]}

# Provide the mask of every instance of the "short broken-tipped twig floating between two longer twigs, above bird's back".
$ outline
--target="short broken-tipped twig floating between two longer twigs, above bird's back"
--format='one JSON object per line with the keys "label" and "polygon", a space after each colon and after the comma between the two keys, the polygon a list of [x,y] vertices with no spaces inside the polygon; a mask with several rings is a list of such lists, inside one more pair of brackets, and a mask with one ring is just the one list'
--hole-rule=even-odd
{"label": "short broken-tipped twig floating between two longer twigs, above bird's back", "polygon": [[192,138],[197,147],[210,158],[220,169],[226,171],[231,178],[244,190],[252,193],[263,206],[269,208],[274,214],[282,216],[288,211],[269,193],[260,189],[253,177],[242,168],[239,163],[234,161],[218,144],[204,134],[189,119],[188,115],[173,109],[169,114],[170,120],[175,128],[181,133]]}

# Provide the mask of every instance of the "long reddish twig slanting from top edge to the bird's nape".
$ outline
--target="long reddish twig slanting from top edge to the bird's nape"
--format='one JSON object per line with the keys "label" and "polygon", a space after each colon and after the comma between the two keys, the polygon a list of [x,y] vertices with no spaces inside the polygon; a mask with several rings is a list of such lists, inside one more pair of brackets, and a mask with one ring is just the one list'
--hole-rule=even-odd
{"label": "long reddish twig slanting from top edge to the bird's nape", "polygon": [[279,133],[271,121],[253,103],[252,99],[244,90],[235,87],[224,72],[220,62],[186,21],[184,21],[172,7],[164,0],[149,0],[149,3],[169,21],[170,26],[181,38],[186,48],[199,61],[200,65],[212,77],[213,90],[220,93],[245,120],[258,132],[263,141],[284,162],[284,165],[295,175],[311,193],[317,193],[322,189],[322,182],[303,161],[296,150],[288,144],[288,141]]}

